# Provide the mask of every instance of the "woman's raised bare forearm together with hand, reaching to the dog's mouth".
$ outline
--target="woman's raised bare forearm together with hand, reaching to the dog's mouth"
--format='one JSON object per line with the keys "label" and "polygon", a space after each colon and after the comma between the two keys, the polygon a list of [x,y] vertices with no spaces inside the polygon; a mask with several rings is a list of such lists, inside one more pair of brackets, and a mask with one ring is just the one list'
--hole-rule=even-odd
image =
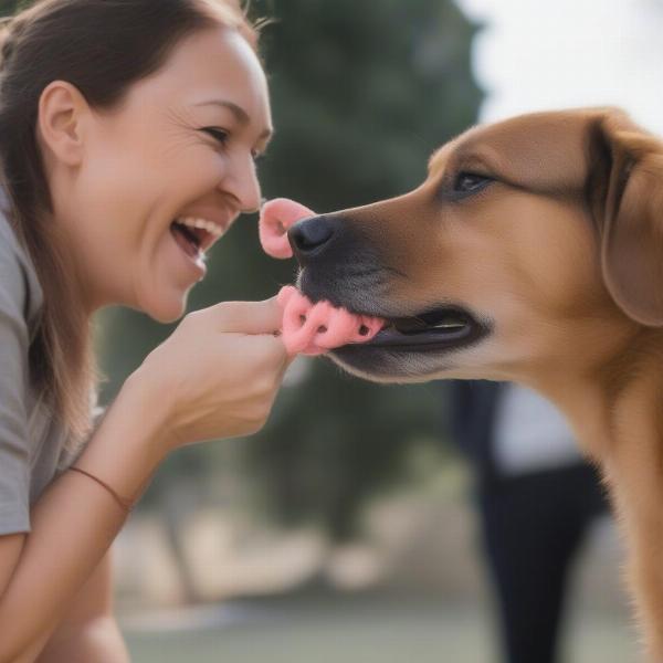
{"label": "woman's raised bare forearm together with hand, reaching to the dog's mouth", "polygon": [[[280,323],[275,301],[187,316],[125,382],[76,464],[136,499],[178,446],[257,431],[288,364],[272,335]],[[0,663],[36,657],[35,643],[45,644],[125,518],[113,495],[87,476],[65,472],[51,484],[31,512],[22,547],[15,545],[13,559],[0,559],[0,573],[11,569],[0,587]]]}

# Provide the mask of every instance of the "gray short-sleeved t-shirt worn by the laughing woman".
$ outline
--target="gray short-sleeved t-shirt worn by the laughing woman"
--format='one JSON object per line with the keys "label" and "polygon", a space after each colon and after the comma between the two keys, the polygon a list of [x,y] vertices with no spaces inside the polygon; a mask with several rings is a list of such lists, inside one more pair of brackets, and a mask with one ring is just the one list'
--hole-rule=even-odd
{"label": "gray short-sleeved t-shirt worn by the laughing woman", "polygon": [[34,265],[0,192],[0,535],[30,530],[30,506],[66,464],[66,432],[29,381],[43,305]]}

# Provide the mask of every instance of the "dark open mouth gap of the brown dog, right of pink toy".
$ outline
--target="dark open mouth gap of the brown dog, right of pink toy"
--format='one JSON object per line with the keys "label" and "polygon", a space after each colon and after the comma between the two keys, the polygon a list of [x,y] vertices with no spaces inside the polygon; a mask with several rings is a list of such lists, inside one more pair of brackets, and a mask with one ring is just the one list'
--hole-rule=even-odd
{"label": "dark open mouth gap of the brown dog, right of pink toy", "polygon": [[476,336],[478,327],[467,311],[441,306],[412,317],[387,318],[382,329],[361,345],[404,351],[449,349]]}

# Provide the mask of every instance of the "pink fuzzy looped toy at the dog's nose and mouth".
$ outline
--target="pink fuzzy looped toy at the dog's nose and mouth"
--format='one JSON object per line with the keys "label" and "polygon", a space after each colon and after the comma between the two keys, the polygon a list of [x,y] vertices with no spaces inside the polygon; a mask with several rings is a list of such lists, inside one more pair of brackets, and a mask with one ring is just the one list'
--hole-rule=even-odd
{"label": "pink fuzzy looped toy at the dog's nose and mouth", "polygon": [[[314,211],[287,198],[266,202],[259,224],[265,253],[273,257],[292,257],[288,228],[314,215]],[[329,302],[313,304],[293,285],[281,288],[277,301],[283,308],[283,343],[291,355],[322,355],[349,343],[366,343],[385,324],[381,318],[356,315]]]}

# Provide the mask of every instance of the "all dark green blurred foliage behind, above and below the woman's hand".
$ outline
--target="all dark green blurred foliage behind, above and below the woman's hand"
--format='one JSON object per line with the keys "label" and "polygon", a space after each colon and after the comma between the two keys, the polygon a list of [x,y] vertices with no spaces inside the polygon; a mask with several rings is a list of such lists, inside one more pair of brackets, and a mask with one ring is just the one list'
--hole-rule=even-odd
{"label": "all dark green blurred foliage behind, above and below the woman's hand", "polygon": [[[11,4],[3,3],[4,13]],[[450,0],[266,0],[251,11],[274,19],[263,36],[276,126],[261,165],[266,197],[327,211],[396,196],[425,177],[436,146],[475,122],[476,27]],[[292,261],[262,253],[255,217],[235,224],[209,266],[190,309],[266,298],[295,273]],[[172,326],[117,308],[103,313],[98,329],[108,400]],[[238,472],[255,481],[274,515],[316,518],[345,538],[362,501],[399,478],[408,449],[439,436],[440,394],[303,361],[305,377],[282,390],[269,424],[245,440]],[[175,454],[155,490],[167,487],[171,473],[208,470],[207,448]]]}

